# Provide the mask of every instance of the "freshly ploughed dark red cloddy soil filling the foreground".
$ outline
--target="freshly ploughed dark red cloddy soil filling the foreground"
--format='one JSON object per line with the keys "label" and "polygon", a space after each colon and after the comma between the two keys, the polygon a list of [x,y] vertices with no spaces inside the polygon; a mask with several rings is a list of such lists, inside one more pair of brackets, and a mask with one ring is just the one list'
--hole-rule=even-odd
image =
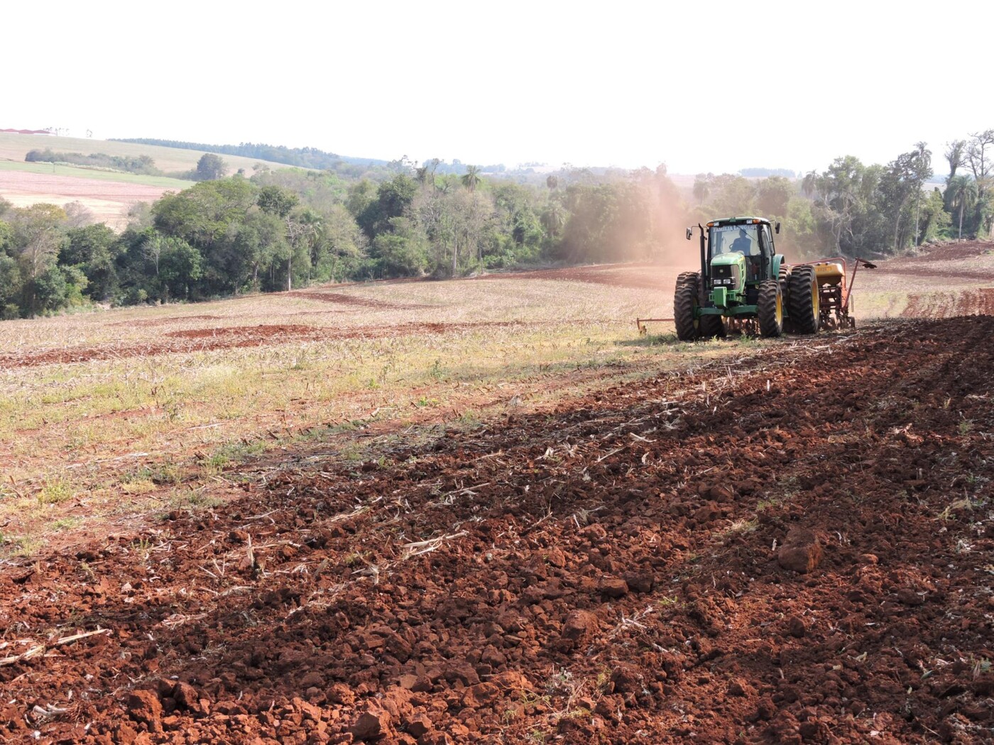
{"label": "freshly ploughed dark red cloddy soil filling the foreground", "polygon": [[994,319],[827,339],[6,569],[0,732],[987,741]]}

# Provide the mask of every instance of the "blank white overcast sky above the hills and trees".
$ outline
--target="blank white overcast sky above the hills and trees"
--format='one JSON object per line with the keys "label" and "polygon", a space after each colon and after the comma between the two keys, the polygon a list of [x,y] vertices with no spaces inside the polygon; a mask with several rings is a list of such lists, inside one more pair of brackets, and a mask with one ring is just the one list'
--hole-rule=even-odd
{"label": "blank white overcast sky above the hills and trees", "polygon": [[6,3],[0,128],[671,173],[925,140],[942,172],[994,127],[994,3],[886,5]]}

